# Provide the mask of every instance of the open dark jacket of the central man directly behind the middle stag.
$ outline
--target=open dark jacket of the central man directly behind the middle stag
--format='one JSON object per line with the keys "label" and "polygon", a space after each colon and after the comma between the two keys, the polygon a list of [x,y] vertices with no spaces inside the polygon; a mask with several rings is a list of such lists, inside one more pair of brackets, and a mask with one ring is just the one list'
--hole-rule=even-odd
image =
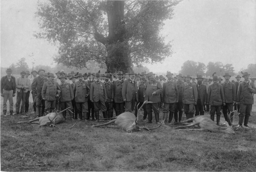
{"label": "open dark jacket of the central man directly behind the middle stag", "polygon": [[127,102],[132,101],[132,97],[135,96],[136,101],[138,102],[138,86],[136,81],[132,83],[131,79],[124,81],[123,88],[122,88],[122,97],[126,99]]}

